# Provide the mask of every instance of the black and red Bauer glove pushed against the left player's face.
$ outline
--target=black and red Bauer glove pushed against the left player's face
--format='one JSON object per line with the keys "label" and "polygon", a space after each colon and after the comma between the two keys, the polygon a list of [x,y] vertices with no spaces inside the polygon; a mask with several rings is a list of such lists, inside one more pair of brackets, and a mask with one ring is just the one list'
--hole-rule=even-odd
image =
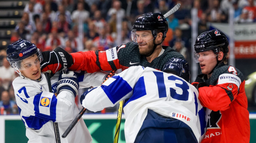
{"label": "black and red Bauer glove pushed against the left player's face", "polygon": [[53,51],[44,51],[42,56],[43,61],[40,63],[42,72],[50,70],[54,74],[63,68],[69,68],[73,64],[73,57],[60,47]]}

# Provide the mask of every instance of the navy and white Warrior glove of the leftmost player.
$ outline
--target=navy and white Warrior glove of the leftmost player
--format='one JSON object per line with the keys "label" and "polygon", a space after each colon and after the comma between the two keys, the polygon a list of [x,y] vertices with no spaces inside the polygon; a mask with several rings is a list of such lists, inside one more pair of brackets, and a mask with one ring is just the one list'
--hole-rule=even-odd
{"label": "navy and white Warrior glove of the leftmost player", "polygon": [[69,71],[65,73],[64,71],[62,71],[60,73],[59,82],[57,86],[57,93],[60,93],[62,90],[67,90],[73,93],[76,97],[76,95],[78,94],[78,88],[78,79],[74,72]]}

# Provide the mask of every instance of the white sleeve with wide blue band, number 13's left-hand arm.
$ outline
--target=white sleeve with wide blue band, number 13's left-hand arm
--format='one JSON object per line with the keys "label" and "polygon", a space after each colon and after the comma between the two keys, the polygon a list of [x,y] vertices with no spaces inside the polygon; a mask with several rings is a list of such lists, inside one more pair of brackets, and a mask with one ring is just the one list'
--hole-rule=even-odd
{"label": "white sleeve with wide blue band, number 13's left-hand arm", "polygon": [[82,102],[83,107],[96,112],[130,98],[143,69],[142,66],[132,66],[109,78],[101,86],[89,89]]}

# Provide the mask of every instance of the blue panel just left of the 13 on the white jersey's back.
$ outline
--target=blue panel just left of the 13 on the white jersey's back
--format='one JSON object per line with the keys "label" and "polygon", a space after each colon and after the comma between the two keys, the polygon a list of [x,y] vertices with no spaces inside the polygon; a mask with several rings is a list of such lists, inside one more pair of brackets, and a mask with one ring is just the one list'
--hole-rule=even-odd
{"label": "blue panel just left of the 13 on the white jersey's back", "polygon": [[146,93],[144,77],[140,77],[140,79],[137,81],[136,85],[134,86],[132,97],[127,102],[125,102],[124,106],[127,105],[129,102],[136,100],[146,94],[147,93]]}

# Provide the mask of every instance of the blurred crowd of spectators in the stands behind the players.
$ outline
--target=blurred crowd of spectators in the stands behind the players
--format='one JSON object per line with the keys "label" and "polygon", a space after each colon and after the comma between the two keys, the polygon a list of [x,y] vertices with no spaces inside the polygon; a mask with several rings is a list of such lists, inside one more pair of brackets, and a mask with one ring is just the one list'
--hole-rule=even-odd
{"label": "blurred crowd of spectators in the stands behind the players", "polygon": [[[147,12],[165,14],[174,5],[180,9],[167,18],[168,32],[163,45],[179,51],[191,62],[191,9],[198,10],[198,33],[208,30],[207,22],[228,22],[228,10],[234,8],[236,23],[256,21],[254,0],[29,0],[23,16],[12,31],[11,43],[26,39],[41,51],[61,47],[78,51],[79,21],[83,22],[83,51],[107,50],[131,41],[135,19]],[[117,13],[122,19],[122,32],[117,33]],[[12,80],[18,76],[0,52],[0,107],[5,113],[18,113]],[[11,109],[9,109],[11,108]],[[12,109],[13,108],[13,109]],[[2,114],[2,112],[1,112]]]}

